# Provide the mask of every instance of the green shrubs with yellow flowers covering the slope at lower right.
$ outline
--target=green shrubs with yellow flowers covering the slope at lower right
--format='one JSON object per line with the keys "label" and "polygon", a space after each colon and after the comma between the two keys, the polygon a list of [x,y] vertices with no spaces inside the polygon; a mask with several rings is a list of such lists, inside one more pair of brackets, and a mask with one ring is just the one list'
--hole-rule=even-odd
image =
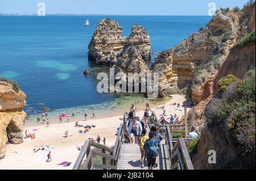
{"label": "green shrubs with yellow flowers covering the slope at lower right", "polygon": [[238,169],[255,169],[255,70],[244,79],[233,80],[217,95],[206,108],[208,127],[231,138],[238,155],[233,162]]}

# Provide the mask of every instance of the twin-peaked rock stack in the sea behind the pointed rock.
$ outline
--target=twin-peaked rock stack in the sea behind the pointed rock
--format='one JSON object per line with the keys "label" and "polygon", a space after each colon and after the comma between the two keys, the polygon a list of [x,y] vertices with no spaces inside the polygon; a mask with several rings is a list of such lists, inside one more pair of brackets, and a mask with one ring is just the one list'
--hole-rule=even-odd
{"label": "twin-peaked rock stack in the sea behind the pointed rock", "polygon": [[88,47],[89,61],[114,65],[127,41],[139,49],[144,60],[150,59],[150,36],[142,26],[133,26],[130,36],[123,37],[122,27],[117,21],[109,18],[100,20]]}

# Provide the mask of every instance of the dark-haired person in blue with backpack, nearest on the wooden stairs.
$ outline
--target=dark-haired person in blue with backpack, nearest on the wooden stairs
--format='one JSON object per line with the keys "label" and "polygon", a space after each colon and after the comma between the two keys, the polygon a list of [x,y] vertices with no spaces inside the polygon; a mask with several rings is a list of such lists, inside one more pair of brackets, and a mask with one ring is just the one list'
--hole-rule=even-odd
{"label": "dark-haired person in blue with backpack, nearest on the wooden stairs", "polygon": [[144,143],[144,150],[146,151],[148,170],[154,170],[156,157],[158,157],[158,143],[154,139],[155,133],[148,134],[148,140]]}

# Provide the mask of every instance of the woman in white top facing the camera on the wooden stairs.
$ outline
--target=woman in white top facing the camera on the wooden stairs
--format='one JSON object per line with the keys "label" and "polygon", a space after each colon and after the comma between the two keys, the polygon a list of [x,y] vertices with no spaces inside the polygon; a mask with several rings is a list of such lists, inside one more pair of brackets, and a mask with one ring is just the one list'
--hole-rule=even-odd
{"label": "woman in white top facing the camera on the wooden stairs", "polygon": [[131,121],[128,128],[128,133],[130,134],[131,137],[131,144],[133,144],[134,137],[135,144],[138,144],[139,136],[142,133],[142,125],[141,122],[139,122],[139,117],[135,117],[134,120]]}

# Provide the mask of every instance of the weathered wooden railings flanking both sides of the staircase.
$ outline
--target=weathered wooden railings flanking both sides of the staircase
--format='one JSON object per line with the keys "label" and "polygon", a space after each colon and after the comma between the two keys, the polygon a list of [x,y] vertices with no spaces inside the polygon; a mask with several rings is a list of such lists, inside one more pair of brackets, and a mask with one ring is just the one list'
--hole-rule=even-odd
{"label": "weathered wooden railings flanking both sides of the staircase", "polygon": [[[114,149],[108,148],[107,146],[97,144],[96,142],[86,140],[84,146],[80,151],[79,157],[77,158],[73,170],[92,170],[92,169],[117,169],[117,163],[120,158],[123,143],[130,143],[130,136],[127,131],[126,113],[123,114],[123,124],[120,124],[117,133],[117,139],[115,140]],[[170,169],[188,169],[193,170],[191,159],[189,158],[188,150],[185,146],[183,138],[178,138],[176,144],[173,145],[173,138],[170,126],[161,125],[155,113],[150,116],[150,122],[159,129],[159,131],[165,131],[166,133],[166,144],[168,147]],[[150,124],[149,124],[150,125]],[[163,127],[165,129],[163,129]],[[102,151],[96,151],[92,148],[98,148]],[[107,154],[108,152],[109,154]],[[98,163],[92,163],[93,155],[102,157],[102,165]],[[106,159],[110,159],[110,164],[106,163]],[[82,163],[84,165],[82,165]],[[109,164],[109,165],[107,165]],[[82,166],[81,166],[82,165]],[[82,167],[82,168],[81,168]]]}

